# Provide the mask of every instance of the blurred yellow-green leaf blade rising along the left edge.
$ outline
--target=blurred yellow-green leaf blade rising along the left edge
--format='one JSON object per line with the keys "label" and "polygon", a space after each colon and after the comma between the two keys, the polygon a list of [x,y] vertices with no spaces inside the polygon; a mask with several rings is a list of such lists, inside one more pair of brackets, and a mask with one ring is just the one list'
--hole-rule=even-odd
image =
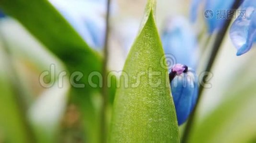
{"label": "blurred yellow-green leaf blade rising along the left edge", "polygon": [[[17,84],[13,78],[10,57],[0,41],[0,142],[32,143],[34,141],[28,120],[24,115],[24,106],[19,98]],[[17,82],[17,79],[15,79]]]}

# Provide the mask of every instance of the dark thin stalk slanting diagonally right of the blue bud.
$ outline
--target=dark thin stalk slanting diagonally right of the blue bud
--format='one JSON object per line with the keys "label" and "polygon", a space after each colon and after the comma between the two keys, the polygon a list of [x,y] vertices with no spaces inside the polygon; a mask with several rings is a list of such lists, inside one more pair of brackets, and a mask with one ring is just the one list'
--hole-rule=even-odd
{"label": "dark thin stalk slanting diagonally right of the blue bud", "polygon": [[[242,3],[242,1],[243,0],[235,0],[235,2],[233,3],[233,6],[231,7],[231,9],[232,10],[237,10],[239,8],[240,4]],[[212,51],[211,51],[211,55],[209,57],[208,64],[207,64],[207,66],[205,68],[206,72],[210,72],[211,69],[212,69],[212,66],[214,64],[215,58],[216,58],[216,56],[217,56],[217,54],[219,52],[219,49],[221,47],[221,43],[222,43],[222,41],[223,41],[223,39],[225,37],[226,32],[228,31],[230,23],[231,23],[231,19],[225,20],[222,29],[217,33],[216,40],[214,41],[213,48],[212,48]],[[191,129],[193,128],[193,123],[194,123],[194,120],[195,120],[196,111],[198,109],[198,105],[199,105],[200,99],[202,97],[202,92],[204,90],[204,85],[201,84],[201,83],[206,83],[207,82],[207,78],[208,78],[208,75],[205,75],[203,77],[202,81],[200,82],[197,104],[196,104],[195,108],[193,109],[193,111],[192,111],[192,113],[191,113],[191,115],[190,115],[190,117],[188,119],[188,122],[186,124],[186,128],[185,128],[182,140],[181,140],[182,143],[187,143],[188,142],[188,138],[189,138],[189,135],[191,133]]]}

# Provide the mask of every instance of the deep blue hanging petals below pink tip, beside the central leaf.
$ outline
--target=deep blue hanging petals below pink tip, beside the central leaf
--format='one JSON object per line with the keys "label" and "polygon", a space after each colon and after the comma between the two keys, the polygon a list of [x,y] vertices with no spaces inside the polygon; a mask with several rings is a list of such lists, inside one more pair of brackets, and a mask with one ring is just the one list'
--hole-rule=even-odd
{"label": "deep blue hanging petals below pink tip, beside the central leaf", "polygon": [[186,122],[198,98],[198,84],[194,72],[176,76],[171,83],[178,124]]}

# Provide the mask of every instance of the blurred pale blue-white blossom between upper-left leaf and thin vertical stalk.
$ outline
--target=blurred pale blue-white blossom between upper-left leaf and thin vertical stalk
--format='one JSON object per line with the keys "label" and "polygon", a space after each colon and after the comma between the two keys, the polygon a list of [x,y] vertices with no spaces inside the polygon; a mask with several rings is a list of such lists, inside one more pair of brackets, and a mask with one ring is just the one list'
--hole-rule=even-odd
{"label": "blurred pale blue-white blossom between upper-left leaf and thin vertical stalk", "polygon": [[[94,49],[105,39],[106,0],[49,0]],[[115,8],[112,7],[112,10]]]}

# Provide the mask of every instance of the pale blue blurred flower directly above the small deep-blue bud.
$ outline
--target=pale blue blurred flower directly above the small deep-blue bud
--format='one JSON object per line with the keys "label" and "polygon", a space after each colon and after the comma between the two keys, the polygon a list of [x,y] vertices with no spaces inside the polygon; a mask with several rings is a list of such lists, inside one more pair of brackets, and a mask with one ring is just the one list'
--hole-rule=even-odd
{"label": "pale blue blurred flower directly above the small deep-blue bud", "polygon": [[165,54],[173,55],[175,63],[186,64],[188,67],[196,69],[198,65],[198,43],[189,24],[189,21],[181,16],[169,19],[166,22],[161,39]]}

